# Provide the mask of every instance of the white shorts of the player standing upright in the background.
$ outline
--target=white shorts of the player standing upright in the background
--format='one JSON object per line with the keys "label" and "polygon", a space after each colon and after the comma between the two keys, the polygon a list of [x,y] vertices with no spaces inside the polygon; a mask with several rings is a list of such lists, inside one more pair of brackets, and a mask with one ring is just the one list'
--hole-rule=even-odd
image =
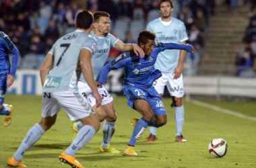
{"label": "white shorts of the player standing upright in the background", "polygon": [[153,86],[159,94],[164,93],[164,87],[166,86],[170,95],[174,97],[183,97],[183,75],[178,79],[173,79],[173,73],[162,73],[162,77],[154,81]]}

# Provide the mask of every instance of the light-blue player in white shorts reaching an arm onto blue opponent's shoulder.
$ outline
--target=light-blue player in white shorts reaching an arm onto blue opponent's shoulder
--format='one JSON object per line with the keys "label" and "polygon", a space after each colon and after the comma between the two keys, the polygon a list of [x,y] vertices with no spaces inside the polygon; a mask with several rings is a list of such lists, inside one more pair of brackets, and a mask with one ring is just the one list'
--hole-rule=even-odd
{"label": "light-blue player in white shorts reaching an arm onto blue opponent's shoulder", "polygon": [[[94,29],[91,32],[91,35],[97,40],[97,48],[92,55],[92,69],[94,71],[94,79],[96,80],[100,70],[104,66],[106,59],[108,58],[108,53],[111,47],[117,48],[118,50],[130,51],[133,50],[137,55],[143,57],[143,50],[137,46],[137,44],[124,44],[121,40],[115,38],[112,34],[109,33],[110,27],[110,15],[104,11],[96,11],[94,13]],[[115,132],[115,122],[117,120],[117,115],[115,113],[115,106],[113,103],[113,97],[106,91],[104,87],[98,87],[98,91],[102,96],[102,103],[100,107],[95,106],[95,98],[92,95],[92,90],[88,86],[88,83],[84,80],[83,77],[80,78],[78,82],[79,93],[84,95],[87,99],[100,122],[104,121],[102,126],[103,139],[100,145],[100,151],[105,153],[120,153],[112,146],[110,146],[110,140]],[[75,133],[79,130],[81,123],[74,123],[73,128],[73,138]]]}

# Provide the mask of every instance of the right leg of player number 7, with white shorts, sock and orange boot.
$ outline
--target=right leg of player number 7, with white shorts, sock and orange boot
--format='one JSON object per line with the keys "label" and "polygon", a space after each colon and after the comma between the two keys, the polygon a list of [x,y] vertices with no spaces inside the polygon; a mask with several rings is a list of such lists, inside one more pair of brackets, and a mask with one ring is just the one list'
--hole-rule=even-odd
{"label": "right leg of player number 7, with white shorts, sock and orange boot", "polygon": [[63,99],[58,99],[58,101],[70,120],[79,120],[82,123],[82,128],[77,132],[77,136],[70,146],[61,153],[59,160],[72,167],[80,168],[83,166],[75,159],[75,153],[92,139],[100,128],[100,122],[88,101],[79,93],[70,96],[72,94],[71,91],[59,92],[59,96]]}

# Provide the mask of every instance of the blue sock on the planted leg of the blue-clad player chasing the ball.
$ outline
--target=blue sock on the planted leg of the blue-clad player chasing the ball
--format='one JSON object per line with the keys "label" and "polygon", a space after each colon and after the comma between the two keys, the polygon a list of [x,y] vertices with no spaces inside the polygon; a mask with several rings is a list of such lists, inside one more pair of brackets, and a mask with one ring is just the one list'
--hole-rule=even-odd
{"label": "blue sock on the planted leg of the blue-clad player chasing the ball", "polygon": [[133,134],[131,134],[131,139],[128,145],[134,146],[136,140],[141,137],[141,135],[143,134],[147,127],[148,121],[144,118],[139,119],[139,121],[134,126]]}

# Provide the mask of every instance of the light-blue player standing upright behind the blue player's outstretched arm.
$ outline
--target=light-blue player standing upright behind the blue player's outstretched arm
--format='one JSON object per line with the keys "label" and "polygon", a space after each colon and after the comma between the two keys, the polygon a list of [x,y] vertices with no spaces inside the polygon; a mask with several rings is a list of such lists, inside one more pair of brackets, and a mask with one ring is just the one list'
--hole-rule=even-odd
{"label": "light-blue player standing upright behind the blue player's outstretched arm", "polygon": [[[158,10],[161,17],[154,19],[147,26],[156,34],[156,42],[177,42],[185,44],[188,40],[186,28],[181,20],[171,16],[173,5],[171,0],[160,0]],[[185,50],[164,50],[160,52],[156,60],[155,68],[159,69],[162,77],[154,82],[154,87],[160,95],[164,93],[166,86],[172,96],[172,107],[174,106],[174,118],[176,122],[176,141],[186,142],[183,138],[184,108],[182,104],[183,91],[183,62]],[[150,127],[148,141],[156,139],[156,128]]]}

